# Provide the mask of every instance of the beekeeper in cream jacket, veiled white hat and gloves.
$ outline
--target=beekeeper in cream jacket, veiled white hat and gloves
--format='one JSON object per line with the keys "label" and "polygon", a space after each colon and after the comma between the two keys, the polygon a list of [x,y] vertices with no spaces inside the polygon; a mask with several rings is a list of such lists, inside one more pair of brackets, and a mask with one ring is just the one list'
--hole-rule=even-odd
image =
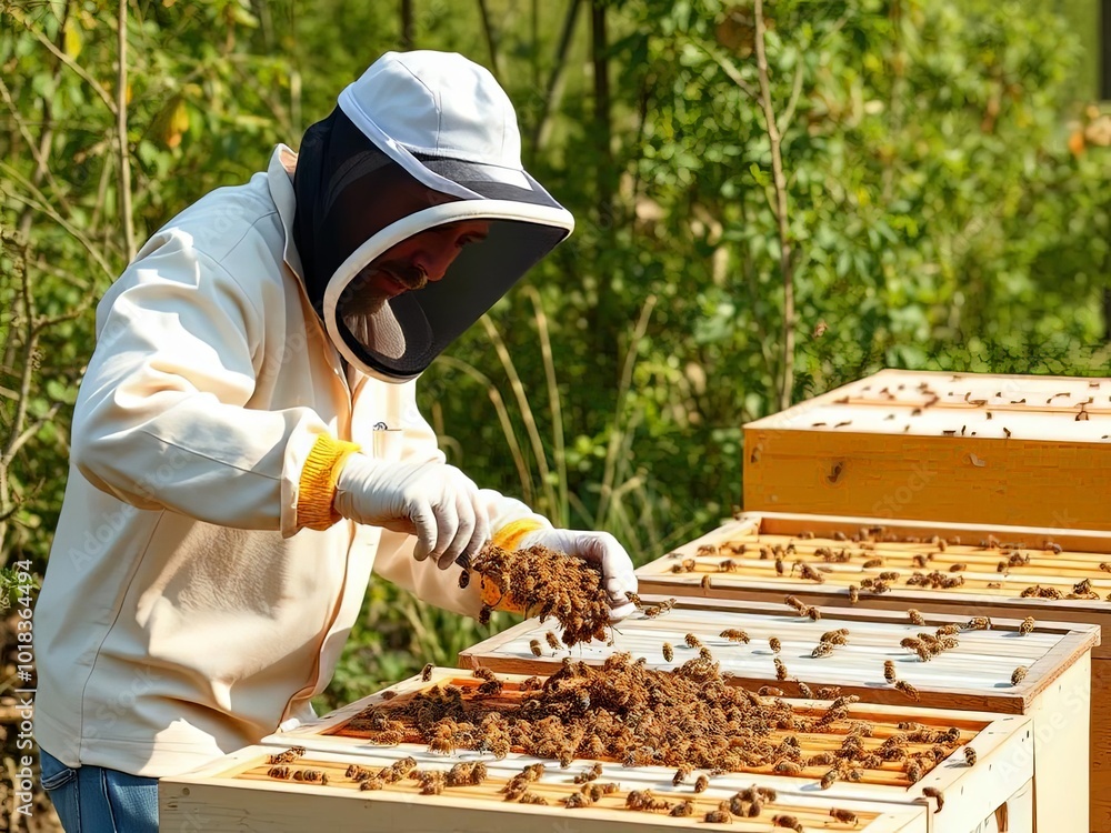
{"label": "beekeeper in cream jacket, veiled white hat and gloves", "polygon": [[509,98],[388,53],[269,169],[157,232],[97,310],[36,611],[36,734],[68,831],[157,830],[157,779],[311,719],[373,569],[477,615],[492,539],[599,564],[446,464],[416,380],[572,229]]}

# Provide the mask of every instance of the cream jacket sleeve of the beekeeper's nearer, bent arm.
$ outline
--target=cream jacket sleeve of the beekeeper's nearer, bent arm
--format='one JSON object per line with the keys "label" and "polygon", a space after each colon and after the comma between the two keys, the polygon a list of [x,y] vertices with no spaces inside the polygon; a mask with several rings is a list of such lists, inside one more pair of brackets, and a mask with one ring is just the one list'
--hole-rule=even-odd
{"label": "cream jacket sleeve of the beekeeper's nearer, bent arm", "polygon": [[140,509],[296,532],[301,466],[328,426],[309,408],[247,407],[261,303],[188,235],[149,243],[98,308],[73,415],[81,474]]}

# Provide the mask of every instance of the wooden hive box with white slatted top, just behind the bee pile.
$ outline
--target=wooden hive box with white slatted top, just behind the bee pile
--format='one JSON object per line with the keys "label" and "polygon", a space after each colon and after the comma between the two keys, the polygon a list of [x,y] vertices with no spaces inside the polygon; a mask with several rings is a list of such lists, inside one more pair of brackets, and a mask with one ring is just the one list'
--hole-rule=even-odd
{"label": "wooden hive box with white slatted top, just behind the bee pile", "polygon": [[[642,596],[647,608],[663,596]],[[687,644],[691,634],[710,649],[729,681],[751,691],[774,686],[788,696],[805,696],[798,680],[818,692],[835,686],[839,694],[854,694],[865,703],[905,705],[908,695],[884,680],[885,661],[898,678],[911,683],[931,709],[979,710],[1028,714],[1034,729],[1034,806],[1037,829],[1052,833],[1087,833],[1088,743],[1091,651],[1100,641],[1097,625],[1040,622],[1028,634],[1017,620],[994,620],[992,630],[964,631],[960,644],[929,662],[901,646],[908,638],[941,625],[963,623],[968,616],[922,614],[924,625],[913,624],[905,612],[823,608],[819,621],[795,615],[783,604],[681,598],[667,613],[635,613],[613,631],[613,644],[590,643],[553,650],[548,642],[550,623],[534,619],[468,649],[459,655],[462,668],[486,666],[496,672],[550,674],[570,655],[602,664],[614,651],[647,658],[649,665],[672,669],[698,655]],[[828,632],[844,629],[848,644],[828,656],[812,652]],[[729,631],[739,635],[727,638]],[[773,651],[770,640],[780,642]],[[672,646],[669,661],[662,645]],[[536,655],[536,651],[540,655]],[[779,659],[790,679],[777,680]],[[1011,682],[1017,668],[1025,678]],[[1043,729],[1043,731],[1039,731]],[[1060,806],[1072,807],[1062,819]],[[1071,825],[1071,826],[1070,826]]]}

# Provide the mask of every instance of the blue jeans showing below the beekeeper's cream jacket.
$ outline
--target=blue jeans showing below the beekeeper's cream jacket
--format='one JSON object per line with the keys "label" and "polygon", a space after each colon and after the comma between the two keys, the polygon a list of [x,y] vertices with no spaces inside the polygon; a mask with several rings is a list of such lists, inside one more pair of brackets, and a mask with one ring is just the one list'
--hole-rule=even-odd
{"label": "blue jeans showing below the beekeeper's cream jacket", "polygon": [[158,833],[158,779],[67,766],[46,750],[42,789],[66,833]]}

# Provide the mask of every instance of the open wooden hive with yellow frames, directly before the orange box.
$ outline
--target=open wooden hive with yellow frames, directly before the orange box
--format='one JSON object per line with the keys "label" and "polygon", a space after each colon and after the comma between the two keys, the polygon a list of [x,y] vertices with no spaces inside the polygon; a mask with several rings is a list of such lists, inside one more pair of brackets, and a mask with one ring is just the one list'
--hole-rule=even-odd
{"label": "open wooden hive with yellow frames, directly before the orange box", "polygon": [[[861,549],[861,538],[899,540],[864,541],[873,549]],[[881,531],[882,530],[882,531]],[[808,538],[813,535],[813,538]],[[934,539],[943,540],[944,551]],[[961,543],[954,543],[957,541]],[[793,543],[794,552],[787,548]],[[981,543],[988,546],[981,546]],[[1023,544],[1022,548],[1017,544]],[[1055,552],[1060,546],[1061,552]],[[744,548],[744,552],[739,552]],[[761,548],[767,558],[761,558]],[[777,551],[782,549],[784,573],[775,568]],[[818,552],[829,551],[832,561]],[[849,558],[839,561],[844,551]],[[700,554],[701,553],[701,554]],[[1011,556],[1027,564],[1010,565]],[[925,568],[915,565],[915,556],[925,558]],[[865,568],[874,559],[882,563]],[[693,560],[693,572],[683,570],[683,562]],[[722,562],[732,561],[732,572],[722,572]],[[795,561],[820,565],[822,581],[803,580]],[[999,572],[1000,562],[1008,562]],[[1111,562],[1111,534],[1022,526],[995,526],[957,523],[892,521],[874,518],[830,518],[821,515],[772,512],[745,513],[718,530],[679,548],[638,570],[641,590],[667,595],[710,596],[739,601],[782,603],[788,594],[804,603],[823,608],[845,606],[850,588],[861,586],[888,571],[899,572],[883,593],[859,591],[859,605],[907,611],[914,608],[923,613],[941,613],[955,618],[974,615],[999,616],[1053,622],[1111,624],[1111,573],[1100,570]],[[955,564],[965,569],[951,573]],[[964,576],[961,586],[923,589],[908,586],[914,573],[941,576]],[[709,586],[703,580],[709,576]],[[1102,578],[1101,578],[1102,576]],[[1052,589],[1062,596],[1074,584],[1089,580],[1094,599],[1022,598],[1031,586]],[[994,586],[999,584],[999,586]],[[1093,831],[1111,831],[1111,716],[1101,703],[1111,696],[1111,648],[1105,643],[1092,650],[1091,729],[1090,729],[1090,824]],[[1070,706],[1081,707],[1079,704]]]}

